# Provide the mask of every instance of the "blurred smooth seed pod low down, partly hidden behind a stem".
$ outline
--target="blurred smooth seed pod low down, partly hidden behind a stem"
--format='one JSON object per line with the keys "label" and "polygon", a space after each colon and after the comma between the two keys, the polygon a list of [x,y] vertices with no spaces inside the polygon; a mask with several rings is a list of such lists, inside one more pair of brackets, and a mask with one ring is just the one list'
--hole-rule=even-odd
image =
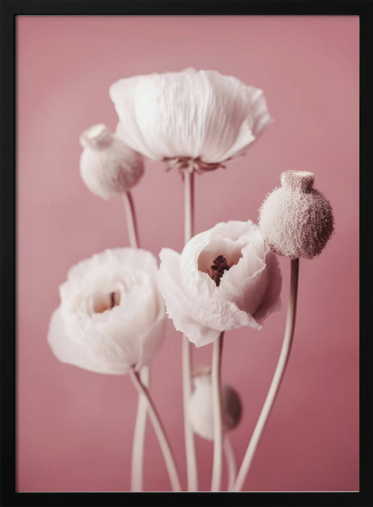
{"label": "blurred smooth seed pod low down, partly hidden behind a stem", "polygon": [[[202,438],[214,438],[214,412],[212,406],[212,385],[210,367],[202,367],[194,372],[195,390],[189,402],[189,417],[193,430]],[[241,420],[242,405],[240,396],[233,387],[221,386],[221,412],[223,431],[235,428]]]}

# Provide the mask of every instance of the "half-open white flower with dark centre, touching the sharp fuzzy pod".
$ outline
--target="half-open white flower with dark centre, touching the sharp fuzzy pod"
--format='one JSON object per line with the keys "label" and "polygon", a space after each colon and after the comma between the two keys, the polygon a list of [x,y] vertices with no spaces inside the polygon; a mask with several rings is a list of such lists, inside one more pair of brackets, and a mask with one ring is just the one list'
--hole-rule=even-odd
{"label": "half-open white flower with dark centre, touching the sharp fuzzy pod", "polygon": [[167,314],[197,347],[222,331],[260,329],[281,308],[278,262],[251,220],[217,224],[188,241],[181,255],[162,248],[160,259]]}

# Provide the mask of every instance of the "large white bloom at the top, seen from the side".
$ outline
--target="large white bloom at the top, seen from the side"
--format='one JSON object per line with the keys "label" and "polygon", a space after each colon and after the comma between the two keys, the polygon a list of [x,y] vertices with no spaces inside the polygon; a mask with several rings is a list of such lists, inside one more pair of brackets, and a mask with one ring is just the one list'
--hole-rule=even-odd
{"label": "large white bloom at the top, seen from the side", "polygon": [[215,164],[242,154],[271,121],[263,91],[216,70],[120,79],[110,86],[116,135],[153,160]]}

